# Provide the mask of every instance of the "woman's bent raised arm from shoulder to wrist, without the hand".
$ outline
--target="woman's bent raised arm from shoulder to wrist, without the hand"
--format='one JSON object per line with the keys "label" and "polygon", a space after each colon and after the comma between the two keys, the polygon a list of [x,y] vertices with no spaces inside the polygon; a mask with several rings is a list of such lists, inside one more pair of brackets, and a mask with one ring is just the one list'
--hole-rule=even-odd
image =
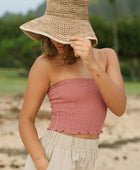
{"label": "woman's bent raised arm from shoulder to wrist, without the hand", "polygon": [[90,67],[90,72],[107,107],[115,115],[122,116],[126,109],[127,97],[118,56],[111,48],[105,48],[103,50],[108,60],[107,71],[104,72],[98,63],[96,63],[93,67]]}

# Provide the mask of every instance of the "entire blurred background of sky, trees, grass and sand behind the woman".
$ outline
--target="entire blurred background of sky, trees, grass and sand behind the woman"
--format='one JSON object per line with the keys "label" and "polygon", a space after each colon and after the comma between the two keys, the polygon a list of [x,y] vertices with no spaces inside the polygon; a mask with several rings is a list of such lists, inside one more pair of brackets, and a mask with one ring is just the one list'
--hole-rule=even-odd
{"label": "entire blurred background of sky, trees, grass and sand behind the woman", "polygon": [[[29,70],[41,54],[41,42],[19,26],[40,17],[45,0],[0,2],[0,169],[22,170],[27,157],[18,132]],[[89,0],[89,21],[98,37],[96,48],[113,48],[125,83],[127,107],[122,117],[108,110],[95,170],[139,170],[140,167],[140,1]],[[50,123],[46,96],[36,120],[39,136]]]}

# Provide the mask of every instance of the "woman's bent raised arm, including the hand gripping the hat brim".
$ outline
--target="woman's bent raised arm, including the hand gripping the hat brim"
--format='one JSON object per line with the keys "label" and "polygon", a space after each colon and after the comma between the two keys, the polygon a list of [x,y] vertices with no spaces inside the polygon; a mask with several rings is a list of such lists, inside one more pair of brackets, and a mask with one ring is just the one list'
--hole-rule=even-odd
{"label": "woman's bent raised arm, including the hand gripping the hat brim", "polygon": [[76,57],[81,57],[83,63],[91,72],[107,107],[117,116],[122,116],[126,109],[126,93],[121,76],[118,56],[115,50],[104,48],[108,61],[105,72],[94,56],[91,41],[83,37],[72,36],[69,41]]}

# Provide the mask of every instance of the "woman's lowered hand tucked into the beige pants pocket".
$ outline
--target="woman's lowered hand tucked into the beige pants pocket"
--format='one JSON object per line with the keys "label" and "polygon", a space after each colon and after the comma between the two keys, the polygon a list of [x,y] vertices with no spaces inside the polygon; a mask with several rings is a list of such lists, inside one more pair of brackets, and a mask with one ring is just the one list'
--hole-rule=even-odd
{"label": "woman's lowered hand tucked into the beige pants pocket", "polygon": [[47,158],[42,157],[37,159],[35,162],[35,167],[37,168],[37,170],[47,170],[47,167],[49,165],[49,161]]}

